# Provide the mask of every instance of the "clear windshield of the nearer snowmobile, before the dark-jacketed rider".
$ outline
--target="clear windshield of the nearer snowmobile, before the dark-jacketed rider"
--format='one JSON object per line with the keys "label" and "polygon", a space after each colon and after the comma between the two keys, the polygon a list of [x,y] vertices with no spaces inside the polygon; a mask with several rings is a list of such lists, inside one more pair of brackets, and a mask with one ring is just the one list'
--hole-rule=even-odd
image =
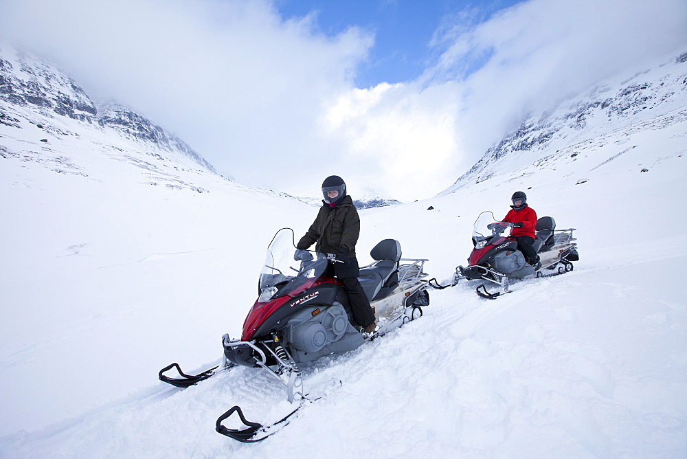
{"label": "clear windshield of the nearer snowmobile, before the dark-jacketed rider", "polygon": [[315,251],[304,251],[302,260],[294,260],[295,244],[293,229],[282,228],[267,247],[262,271],[260,271],[260,298],[266,303],[288,295],[308,282],[313,284],[327,267],[327,256]]}

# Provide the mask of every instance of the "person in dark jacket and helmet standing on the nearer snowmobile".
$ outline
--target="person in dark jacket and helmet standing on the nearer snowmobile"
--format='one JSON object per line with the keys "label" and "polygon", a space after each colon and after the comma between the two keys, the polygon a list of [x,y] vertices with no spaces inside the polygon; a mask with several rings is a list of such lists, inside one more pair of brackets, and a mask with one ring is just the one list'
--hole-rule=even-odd
{"label": "person in dark jacket and helmet standing on the nearer snowmobile", "polygon": [[374,312],[363,287],[358,281],[359,267],[355,258],[355,245],[360,234],[360,218],[353,200],[346,194],[346,183],[341,177],[332,175],[322,183],[324,201],[317,218],[296,244],[294,258],[300,259],[302,252],[313,243],[315,250],[323,254],[335,254],[334,269],[337,278],[343,282],[348,293],[353,320],[365,333],[374,332]]}

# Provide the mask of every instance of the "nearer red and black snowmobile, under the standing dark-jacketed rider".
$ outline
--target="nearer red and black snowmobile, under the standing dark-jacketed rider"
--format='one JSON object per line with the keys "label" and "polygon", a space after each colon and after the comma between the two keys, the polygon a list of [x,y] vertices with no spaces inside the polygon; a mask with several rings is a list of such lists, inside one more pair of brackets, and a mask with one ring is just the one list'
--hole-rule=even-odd
{"label": "nearer red and black snowmobile, under the standing dark-jacketed rider", "polygon": [[[427,259],[401,258],[398,240],[385,239],[374,246],[372,264],[360,269],[359,281],[374,310],[376,331],[370,335],[352,322],[348,295],[337,278],[326,275],[330,263],[341,262],[333,254],[307,251],[295,261],[294,234],[280,229],[267,248],[258,280],[258,300],[243,324],[240,339],[223,335],[223,368],[263,368],[286,385],[286,397],[304,396],[299,363],[353,350],[366,340],[415,320],[429,305]],[[164,372],[176,366],[181,378]],[[216,372],[181,372],[176,363],[163,368],[162,381],[188,387]]]}

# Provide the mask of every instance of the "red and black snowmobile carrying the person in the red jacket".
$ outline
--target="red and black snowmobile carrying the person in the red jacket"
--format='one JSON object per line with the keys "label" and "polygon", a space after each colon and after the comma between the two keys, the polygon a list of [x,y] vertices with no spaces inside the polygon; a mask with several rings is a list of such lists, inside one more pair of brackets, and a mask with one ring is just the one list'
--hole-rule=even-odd
{"label": "red and black snowmobile carrying the person in the red jacket", "polygon": [[537,220],[536,237],[532,247],[539,254],[541,266],[534,269],[522,252],[517,241],[510,238],[513,223],[497,221],[492,212],[482,212],[473,228],[474,249],[468,258],[468,267],[458,266],[453,275],[453,284],[461,279],[486,280],[490,286],[499,287],[488,291],[487,284],[480,284],[475,290],[482,298],[493,300],[508,293],[511,280],[555,276],[572,271],[572,262],[580,259],[576,239],[572,236],[575,228],[556,229],[556,222],[550,216]]}

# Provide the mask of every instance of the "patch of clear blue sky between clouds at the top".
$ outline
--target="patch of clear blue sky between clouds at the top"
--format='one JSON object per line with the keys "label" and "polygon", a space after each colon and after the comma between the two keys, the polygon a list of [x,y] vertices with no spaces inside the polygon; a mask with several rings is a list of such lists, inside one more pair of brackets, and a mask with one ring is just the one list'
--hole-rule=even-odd
{"label": "patch of clear blue sky between clouds at the top", "polygon": [[[374,34],[374,45],[354,80],[357,87],[368,88],[421,76],[441,50],[440,43],[432,42],[447,23],[460,21],[467,29],[520,1],[280,0],[275,5],[284,19],[313,14],[317,28],[327,36],[352,26]],[[480,62],[475,60],[470,69]]]}

